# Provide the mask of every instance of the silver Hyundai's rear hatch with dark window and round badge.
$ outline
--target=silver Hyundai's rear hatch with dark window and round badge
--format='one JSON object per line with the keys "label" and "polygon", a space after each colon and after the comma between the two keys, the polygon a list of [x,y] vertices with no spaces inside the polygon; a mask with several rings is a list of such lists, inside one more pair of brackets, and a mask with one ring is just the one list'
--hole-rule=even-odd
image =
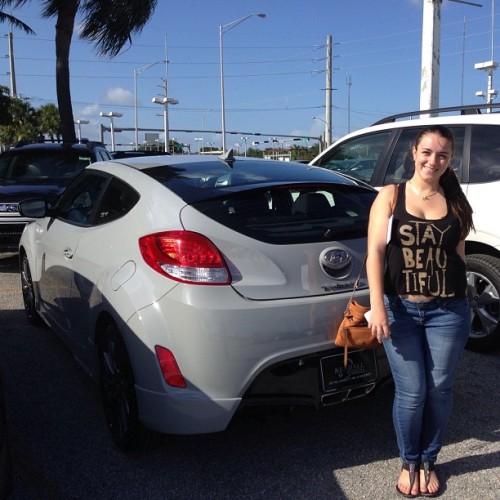
{"label": "silver Hyundai's rear hatch with dark window and round badge", "polygon": [[217,245],[243,297],[318,296],[352,289],[374,196],[350,184],[263,186],[188,205],[181,222]]}

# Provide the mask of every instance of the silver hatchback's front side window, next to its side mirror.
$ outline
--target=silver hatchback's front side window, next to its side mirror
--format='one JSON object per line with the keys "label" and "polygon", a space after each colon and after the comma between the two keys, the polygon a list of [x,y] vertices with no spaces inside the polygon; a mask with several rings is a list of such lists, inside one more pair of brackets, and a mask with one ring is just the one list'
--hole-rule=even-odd
{"label": "silver hatchback's front side window, next to its side mirror", "polygon": [[90,225],[99,194],[107,182],[107,177],[95,174],[80,177],[63,196],[58,217],[75,224]]}

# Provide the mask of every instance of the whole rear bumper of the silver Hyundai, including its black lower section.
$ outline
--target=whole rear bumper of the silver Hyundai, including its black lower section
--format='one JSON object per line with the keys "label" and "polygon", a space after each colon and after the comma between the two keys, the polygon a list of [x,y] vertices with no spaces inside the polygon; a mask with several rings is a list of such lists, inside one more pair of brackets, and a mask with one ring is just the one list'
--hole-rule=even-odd
{"label": "whole rear bumper of the silver Hyundai, including its black lower section", "polygon": [[[369,376],[341,362],[337,380],[324,373],[325,359],[342,360],[331,339],[348,297],[249,301],[230,287],[177,287],[127,322],[141,421],[170,434],[218,432],[248,406],[319,408],[369,394],[390,379],[383,349],[363,351]],[[156,345],[172,351],[186,388],[164,382]]]}

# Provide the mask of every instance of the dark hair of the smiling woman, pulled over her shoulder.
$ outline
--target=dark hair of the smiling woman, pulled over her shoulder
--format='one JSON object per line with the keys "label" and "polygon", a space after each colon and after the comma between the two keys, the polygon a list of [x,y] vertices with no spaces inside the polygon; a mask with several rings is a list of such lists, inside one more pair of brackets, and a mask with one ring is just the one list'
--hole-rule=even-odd
{"label": "dark hair of the smiling woman, pulled over her shoulder", "polygon": [[[427,134],[437,134],[443,139],[447,139],[450,141],[452,152],[455,151],[455,138],[453,137],[453,133],[449,128],[443,127],[442,125],[431,125],[422,130],[415,141],[415,148],[420,144],[422,137]],[[443,188],[444,196],[450,205],[452,213],[460,221],[460,238],[465,239],[470,231],[474,229],[472,207],[462,191],[460,182],[458,181],[455,171],[451,168],[451,164],[439,179],[439,184]]]}

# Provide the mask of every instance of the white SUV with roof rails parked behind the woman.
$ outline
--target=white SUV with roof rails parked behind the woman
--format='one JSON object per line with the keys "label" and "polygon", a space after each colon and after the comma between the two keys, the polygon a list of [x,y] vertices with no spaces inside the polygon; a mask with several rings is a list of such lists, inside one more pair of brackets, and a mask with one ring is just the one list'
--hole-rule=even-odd
{"label": "white SUV with roof rails parked behind the woman", "polygon": [[452,130],[452,165],[474,210],[476,227],[465,247],[473,313],[467,347],[476,351],[500,346],[500,225],[496,219],[500,211],[500,114],[495,112],[499,107],[459,106],[390,116],[339,139],[310,163],[380,188],[411,177],[411,147],[422,129],[441,124]]}

